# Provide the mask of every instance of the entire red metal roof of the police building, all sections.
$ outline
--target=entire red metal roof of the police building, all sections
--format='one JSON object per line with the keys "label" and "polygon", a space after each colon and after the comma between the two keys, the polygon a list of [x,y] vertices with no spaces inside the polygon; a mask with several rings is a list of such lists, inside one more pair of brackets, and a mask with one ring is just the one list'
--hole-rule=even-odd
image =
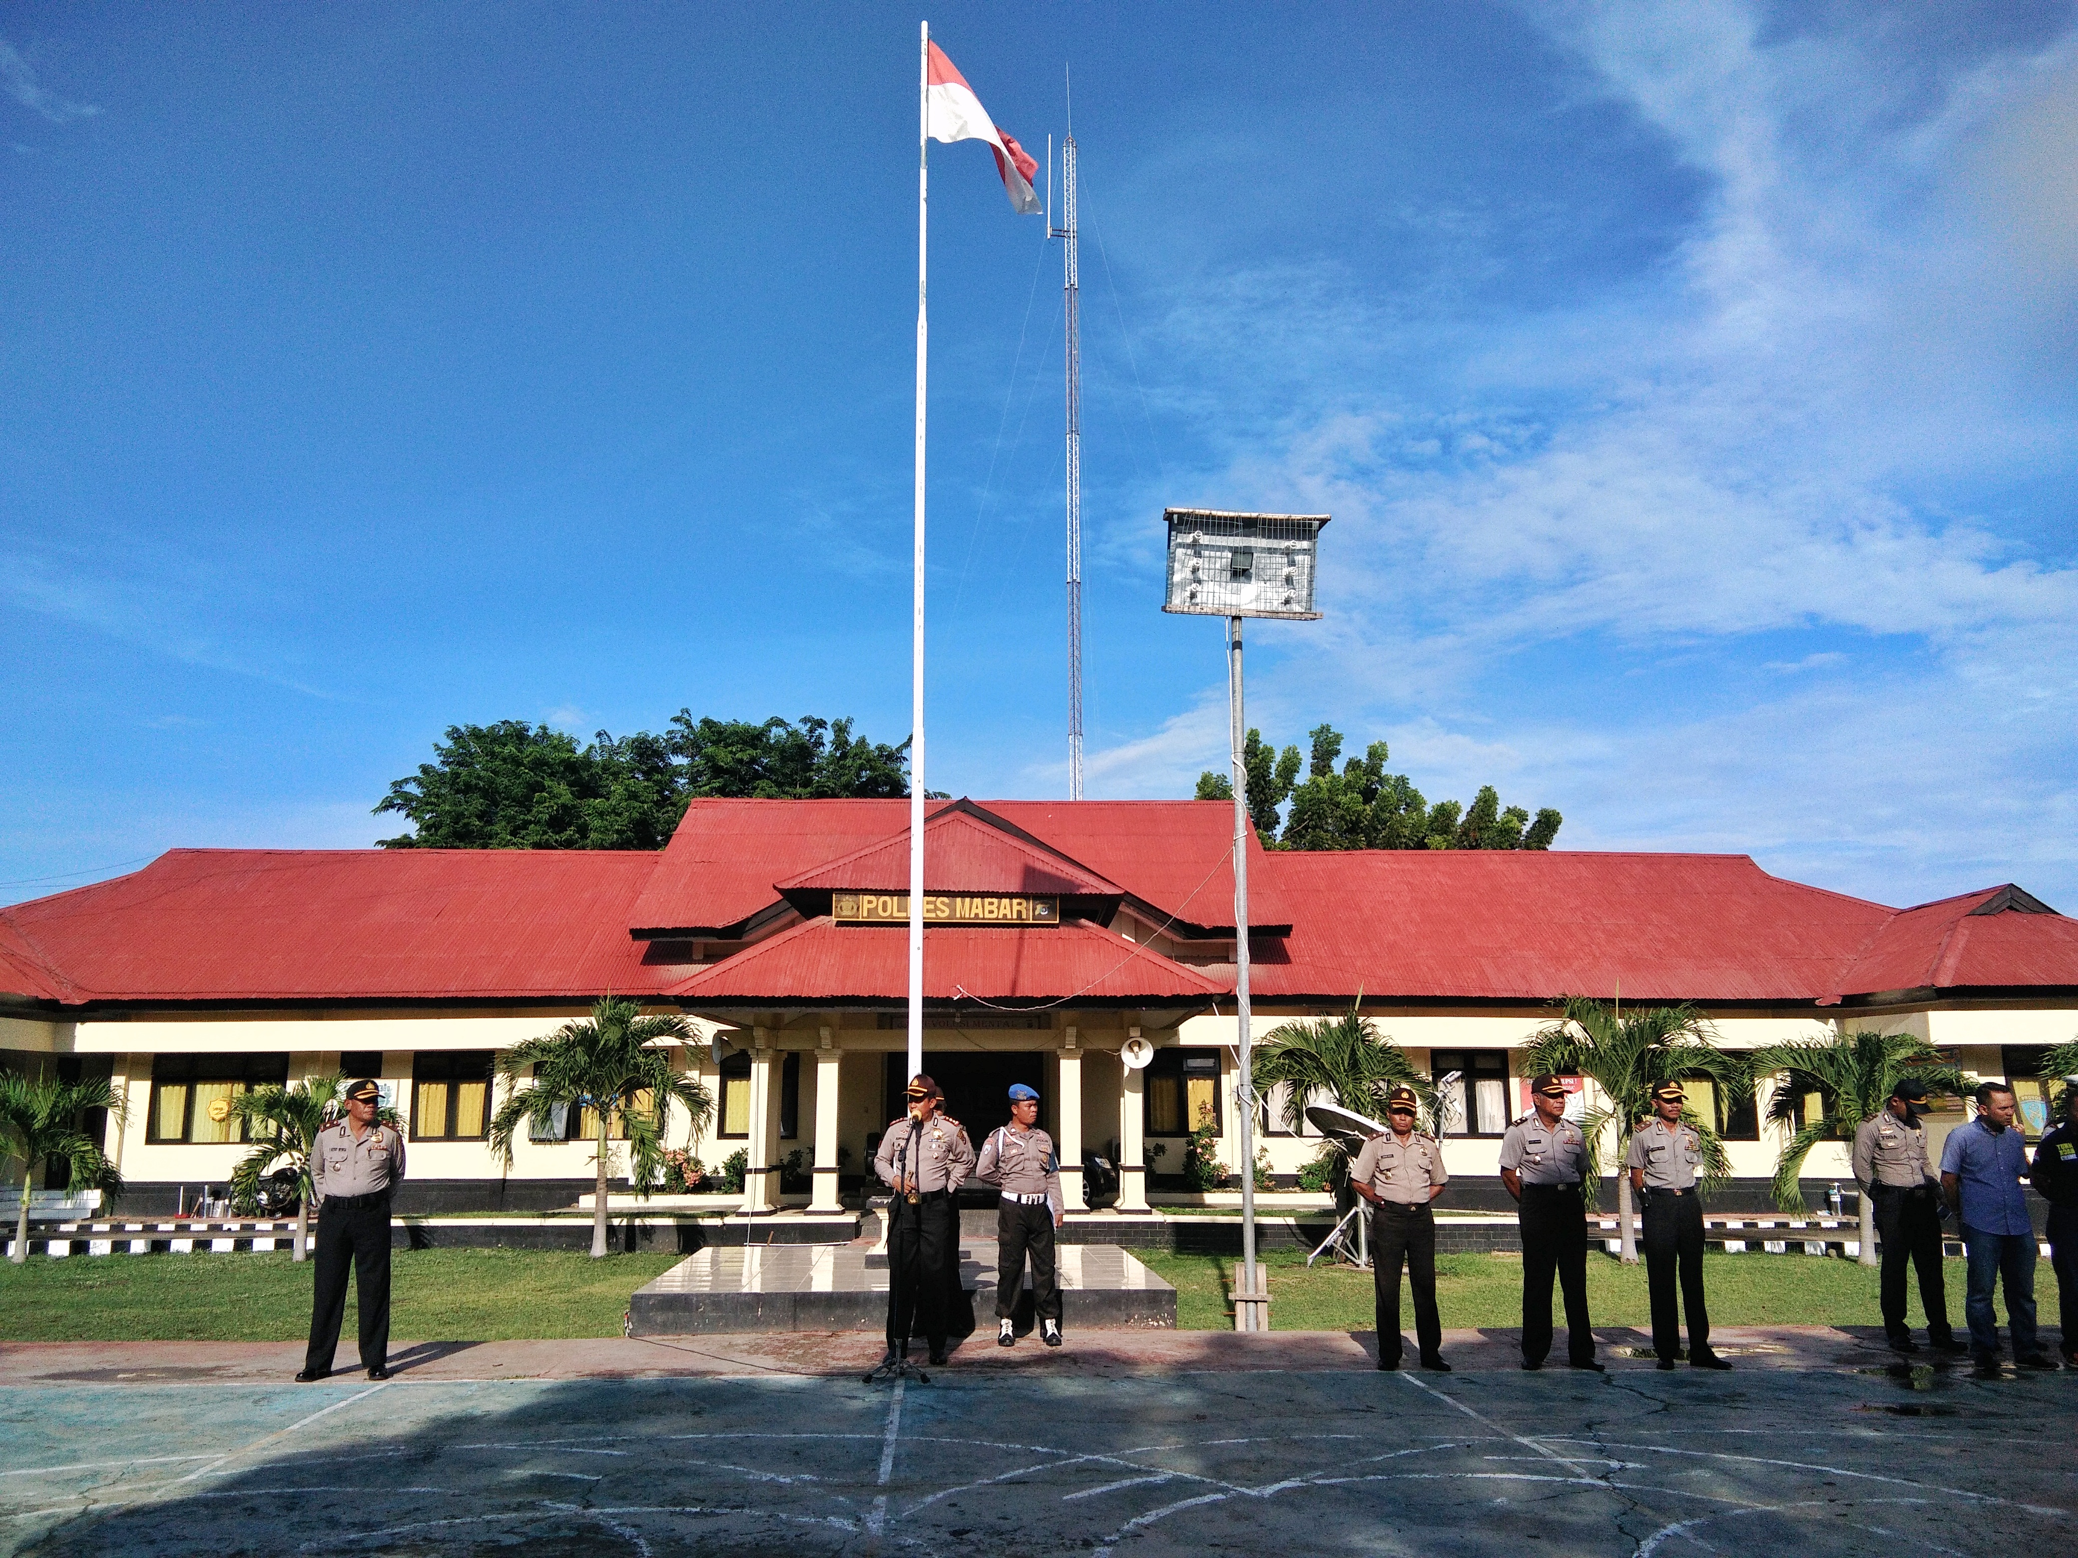
{"label": "entire red metal roof of the police building, all sections", "polygon": [[[900,1001],[900,926],[808,926],[686,978],[628,926],[723,926],[777,885],[908,870],[906,802],[694,802],[671,850],[177,850],[0,908],[0,993],[42,1001]],[[1220,802],[933,804],[933,885],[1087,889],[1216,926]],[[1033,841],[1037,839],[1037,843]],[[889,854],[894,852],[894,854]],[[943,875],[941,875],[943,872]],[[1004,872],[1033,872],[1018,883]],[[867,885],[867,883],[862,883]],[[1906,989],[2078,991],[2078,922],[2018,889],[1891,910],[1746,856],[1286,854],[1251,845],[1263,999],[1829,1001]],[[650,906],[644,910],[644,906]],[[1112,964],[1118,964],[1116,972]],[[1089,924],[933,929],[933,999],[1174,999],[1230,989]],[[1101,978],[1097,978],[1101,976]],[[1095,978],[1095,983],[1091,983]],[[765,987],[769,983],[769,987]]]}

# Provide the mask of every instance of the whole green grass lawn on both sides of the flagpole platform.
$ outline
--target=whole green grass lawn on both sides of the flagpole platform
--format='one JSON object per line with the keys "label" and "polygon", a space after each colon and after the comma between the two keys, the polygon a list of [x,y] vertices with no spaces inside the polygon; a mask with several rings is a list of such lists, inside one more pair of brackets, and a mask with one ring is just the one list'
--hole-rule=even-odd
{"label": "whole green grass lawn on both sides of the flagpole platform", "polygon": [[[1182,1329],[1228,1329],[1238,1257],[1137,1251],[1176,1286]],[[628,1296],[677,1255],[565,1251],[397,1251],[391,1334],[414,1342],[619,1336]],[[1371,1278],[1328,1263],[1305,1269],[1299,1251],[1263,1257],[1270,1321],[1280,1332],[1371,1329]],[[6,1342],[295,1342],[310,1329],[310,1273],[287,1255],[104,1255],[27,1265],[0,1261],[0,1340]],[[1879,1325],[1876,1273],[1810,1255],[1706,1255],[1710,1319],[1719,1325]],[[1513,1255],[1444,1255],[1436,1298],[1446,1327],[1521,1325],[1523,1267]],[[1947,1263],[1949,1319],[1962,1329],[1962,1261]],[[2036,1265],[2034,1298],[2055,1329],[2057,1284]],[[1556,1300],[1554,1300],[1556,1302]],[[1588,1257],[1596,1325],[1648,1325],[1644,1267]],[[1413,1325],[1403,1296],[1401,1315]],[[2003,1315],[2001,1315],[2003,1319]],[[1561,1313],[1563,1323],[1563,1313]],[[1912,1323],[1920,1325],[1918,1292]],[[349,1288],[347,1338],[353,1336]]]}

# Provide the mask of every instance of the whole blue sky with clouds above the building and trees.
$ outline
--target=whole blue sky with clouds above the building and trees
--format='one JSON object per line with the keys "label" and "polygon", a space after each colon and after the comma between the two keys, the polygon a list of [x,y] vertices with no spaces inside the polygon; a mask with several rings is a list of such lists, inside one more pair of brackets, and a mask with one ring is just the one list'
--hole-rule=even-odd
{"label": "whole blue sky with clouds above the building and trees", "polygon": [[[2070,4],[943,6],[1083,162],[1089,794],[1251,723],[1561,845],[2078,912]],[[916,15],[0,4],[0,899],[443,727],[908,729]],[[1066,789],[1060,253],[933,147],[929,781]]]}

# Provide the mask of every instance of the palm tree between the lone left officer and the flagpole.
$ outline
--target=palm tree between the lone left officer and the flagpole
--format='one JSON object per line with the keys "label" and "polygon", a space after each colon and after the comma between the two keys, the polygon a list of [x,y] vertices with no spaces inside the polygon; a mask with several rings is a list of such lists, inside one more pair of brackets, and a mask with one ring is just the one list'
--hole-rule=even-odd
{"label": "palm tree between the lone left officer and the flagpole", "polygon": [[[590,1109],[598,1122],[598,1188],[592,1194],[592,1255],[607,1253],[607,1172],[613,1163],[613,1126],[628,1130],[628,1180],[636,1194],[648,1194],[663,1165],[663,1136],[677,1103],[698,1140],[713,1113],[713,1099],[698,1078],[671,1068],[671,1055],[657,1045],[690,1039],[682,1016],[646,1018],[621,995],[607,995],[588,1022],[565,1022],[551,1035],[528,1039],[499,1055],[505,1103],[490,1118],[490,1151],[513,1165],[513,1132],[522,1124],[547,1134],[555,1111]],[[522,1086],[532,1074],[534,1084]]]}

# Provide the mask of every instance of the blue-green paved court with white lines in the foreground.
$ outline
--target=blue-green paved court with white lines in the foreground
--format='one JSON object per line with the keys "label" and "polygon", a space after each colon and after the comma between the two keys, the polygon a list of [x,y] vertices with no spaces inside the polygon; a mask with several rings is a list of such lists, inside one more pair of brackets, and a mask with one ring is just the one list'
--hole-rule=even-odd
{"label": "blue-green paved court with white lines in the foreground", "polygon": [[2078,1375],[143,1377],[0,1394],[0,1552],[2068,1552]]}

